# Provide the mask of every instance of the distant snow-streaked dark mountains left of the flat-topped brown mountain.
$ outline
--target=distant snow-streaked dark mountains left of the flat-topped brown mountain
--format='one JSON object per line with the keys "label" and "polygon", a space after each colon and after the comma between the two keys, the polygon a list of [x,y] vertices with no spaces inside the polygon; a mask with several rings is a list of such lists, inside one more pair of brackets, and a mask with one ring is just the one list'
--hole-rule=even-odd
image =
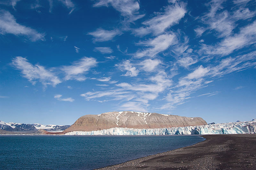
{"label": "distant snow-streaked dark mountains left of the flat-topped brown mountain", "polygon": [[25,124],[0,121],[0,129],[7,131],[36,131],[38,129],[45,129],[47,131],[63,131],[70,127],[70,125],[43,125],[39,123]]}

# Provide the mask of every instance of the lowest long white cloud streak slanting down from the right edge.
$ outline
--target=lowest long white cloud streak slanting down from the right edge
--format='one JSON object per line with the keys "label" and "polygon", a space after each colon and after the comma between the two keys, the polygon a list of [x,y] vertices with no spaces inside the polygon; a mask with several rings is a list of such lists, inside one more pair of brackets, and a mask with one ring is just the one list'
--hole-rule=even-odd
{"label": "lowest long white cloud streak slanting down from the right edge", "polygon": [[[164,98],[166,103],[159,107],[159,109],[174,109],[187,102],[188,99],[193,97],[193,93],[199,89],[207,87],[209,83],[214,81],[214,79],[235,71],[255,67],[255,56],[256,51],[253,51],[245,55],[227,57],[220,60],[215,65],[209,65],[208,67],[204,67],[202,65],[196,67],[186,76],[179,78],[178,83],[171,88],[172,90],[170,90]],[[215,94],[217,94],[217,92],[205,95],[212,96]]]}

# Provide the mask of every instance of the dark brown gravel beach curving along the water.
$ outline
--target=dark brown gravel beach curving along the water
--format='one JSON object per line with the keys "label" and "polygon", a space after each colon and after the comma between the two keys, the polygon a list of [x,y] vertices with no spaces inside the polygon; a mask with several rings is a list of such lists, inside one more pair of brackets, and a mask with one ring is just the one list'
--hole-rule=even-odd
{"label": "dark brown gravel beach curving along the water", "polygon": [[202,137],[192,146],[100,169],[256,169],[256,134]]}

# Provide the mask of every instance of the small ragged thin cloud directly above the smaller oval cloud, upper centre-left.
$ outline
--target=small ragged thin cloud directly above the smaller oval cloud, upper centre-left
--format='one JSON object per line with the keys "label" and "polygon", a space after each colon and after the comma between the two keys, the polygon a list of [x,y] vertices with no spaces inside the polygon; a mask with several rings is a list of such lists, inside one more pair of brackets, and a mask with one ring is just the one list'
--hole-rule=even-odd
{"label": "small ragged thin cloud directly above the smaller oval cloud, upper centre-left", "polygon": [[121,35],[118,29],[116,30],[104,30],[102,28],[98,28],[96,31],[88,33],[88,35],[92,35],[93,42],[103,42],[103,41],[110,41],[117,35]]}

